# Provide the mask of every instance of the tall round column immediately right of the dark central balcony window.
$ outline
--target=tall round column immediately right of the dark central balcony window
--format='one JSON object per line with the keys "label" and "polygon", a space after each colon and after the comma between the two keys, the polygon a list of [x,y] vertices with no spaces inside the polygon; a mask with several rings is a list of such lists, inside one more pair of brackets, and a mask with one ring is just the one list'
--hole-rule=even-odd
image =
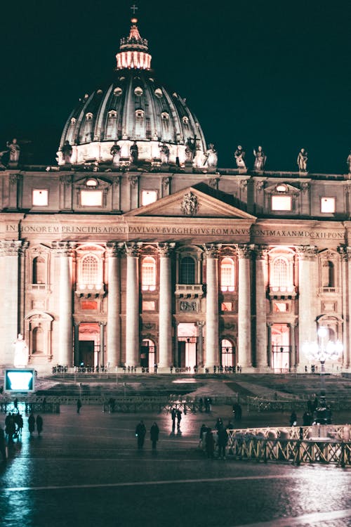
{"label": "tall round column immediately right of the dark central balcony window", "polygon": [[218,246],[204,245],[206,256],[206,367],[219,364]]}

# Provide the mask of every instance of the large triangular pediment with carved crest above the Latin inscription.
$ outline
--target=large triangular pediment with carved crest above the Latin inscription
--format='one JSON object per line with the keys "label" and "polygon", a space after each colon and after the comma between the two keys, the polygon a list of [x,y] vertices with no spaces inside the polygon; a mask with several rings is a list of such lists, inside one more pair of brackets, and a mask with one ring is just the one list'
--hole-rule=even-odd
{"label": "large triangular pediment with carved crest above the Latin inscription", "polygon": [[195,187],[187,187],[178,192],[162,197],[154,203],[126,212],[124,216],[166,216],[189,218],[238,218],[256,220],[256,216],[235,207],[227,200],[220,199],[231,196],[216,192],[217,196],[203,192]]}

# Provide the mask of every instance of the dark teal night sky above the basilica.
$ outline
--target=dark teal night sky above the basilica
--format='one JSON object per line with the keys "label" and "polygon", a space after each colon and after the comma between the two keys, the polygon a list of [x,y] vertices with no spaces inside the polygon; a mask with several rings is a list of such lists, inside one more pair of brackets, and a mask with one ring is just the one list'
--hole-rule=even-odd
{"label": "dark teal night sky above the basilica", "polygon": [[[112,80],[131,1],[20,0],[1,6],[0,146],[54,163],[79,97]],[[220,167],[262,144],[267,169],[345,173],[351,149],[351,3],[140,0],[152,67],[187,98]],[[30,143],[27,143],[30,141]]]}

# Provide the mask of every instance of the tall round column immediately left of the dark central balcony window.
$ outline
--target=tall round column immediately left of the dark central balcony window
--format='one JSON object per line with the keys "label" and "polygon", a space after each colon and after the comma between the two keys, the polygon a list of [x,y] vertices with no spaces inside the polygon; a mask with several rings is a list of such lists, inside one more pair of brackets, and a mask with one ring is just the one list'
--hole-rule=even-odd
{"label": "tall round column immediately left of the dark central balcony window", "polygon": [[174,243],[158,245],[159,249],[159,367],[169,367],[172,360],[172,281],[171,251]]}

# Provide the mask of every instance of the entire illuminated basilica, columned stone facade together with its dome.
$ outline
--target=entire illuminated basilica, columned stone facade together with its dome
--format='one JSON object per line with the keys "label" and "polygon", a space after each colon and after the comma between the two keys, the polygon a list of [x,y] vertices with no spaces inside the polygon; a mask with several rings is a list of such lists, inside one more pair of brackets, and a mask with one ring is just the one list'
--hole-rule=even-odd
{"label": "entire illuminated basilica, columned stone facade together with its dome", "polygon": [[337,343],[326,368],[347,371],[350,174],[266,171],[262,149],[253,170],[240,149],[220,169],[137,22],[112,84],[69,115],[57,166],[18,148],[2,164],[1,365],[21,333],[39,372],[303,372],[306,344]]}

